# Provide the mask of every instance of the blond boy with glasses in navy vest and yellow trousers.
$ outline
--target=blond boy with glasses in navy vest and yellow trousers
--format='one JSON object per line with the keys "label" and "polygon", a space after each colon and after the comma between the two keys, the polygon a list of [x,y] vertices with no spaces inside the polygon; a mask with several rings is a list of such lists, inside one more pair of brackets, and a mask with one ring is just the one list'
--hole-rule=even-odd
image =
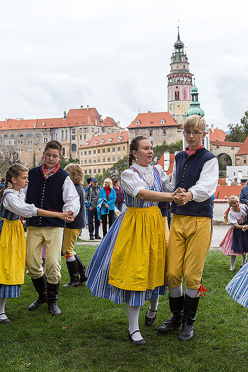
{"label": "blond boy with glasses in navy vest and yellow trousers", "polygon": [[[184,123],[184,136],[188,146],[175,156],[172,186],[181,187],[185,193],[174,197],[173,213],[168,243],[166,281],[169,304],[173,316],[160,324],[159,333],[182,330],[181,341],[193,337],[193,324],[199,302],[202,270],[211,243],[210,221],[213,217],[212,195],[219,178],[216,156],[206,150],[202,139],[206,135],[206,122],[198,115],[191,115]],[[186,294],[183,294],[184,276]]]}

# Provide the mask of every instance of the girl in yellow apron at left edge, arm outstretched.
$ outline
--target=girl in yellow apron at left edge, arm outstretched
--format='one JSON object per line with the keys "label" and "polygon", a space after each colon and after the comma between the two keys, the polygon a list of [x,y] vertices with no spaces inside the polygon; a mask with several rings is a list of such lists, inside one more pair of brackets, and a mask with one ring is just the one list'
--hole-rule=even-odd
{"label": "girl in yellow apron at left edge, arm outstretched", "polygon": [[[23,188],[28,184],[28,169],[11,165],[6,172],[6,184],[0,191],[0,323],[10,321],[5,315],[6,298],[19,297],[24,282],[26,242],[20,216],[45,216],[73,220],[71,212],[57,213],[38,209],[25,203]],[[8,188],[8,185],[12,185]]]}

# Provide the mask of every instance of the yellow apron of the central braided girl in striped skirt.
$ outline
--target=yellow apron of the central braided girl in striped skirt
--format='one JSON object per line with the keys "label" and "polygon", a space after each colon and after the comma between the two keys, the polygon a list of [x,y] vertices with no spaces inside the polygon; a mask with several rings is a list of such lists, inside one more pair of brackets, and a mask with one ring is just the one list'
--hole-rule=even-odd
{"label": "yellow apron of the central braided girl in striped skirt", "polygon": [[145,291],[165,284],[166,241],[157,206],[128,207],[114,246],[109,284]]}

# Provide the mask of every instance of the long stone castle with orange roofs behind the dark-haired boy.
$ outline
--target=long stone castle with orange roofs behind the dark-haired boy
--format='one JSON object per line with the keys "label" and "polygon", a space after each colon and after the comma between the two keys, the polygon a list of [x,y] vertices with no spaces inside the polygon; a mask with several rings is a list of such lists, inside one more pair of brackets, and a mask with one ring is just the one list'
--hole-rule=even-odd
{"label": "long stone castle with orange roofs behind the dark-haired boy", "polygon": [[18,160],[28,167],[42,162],[47,142],[56,139],[62,143],[65,158],[78,159],[78,147],[93,135],[123,130],[120,123],[107,117],[102,119],[95,108],[70,109],[63,118],[5,119],[0,122],[1,153],[17,153]]}

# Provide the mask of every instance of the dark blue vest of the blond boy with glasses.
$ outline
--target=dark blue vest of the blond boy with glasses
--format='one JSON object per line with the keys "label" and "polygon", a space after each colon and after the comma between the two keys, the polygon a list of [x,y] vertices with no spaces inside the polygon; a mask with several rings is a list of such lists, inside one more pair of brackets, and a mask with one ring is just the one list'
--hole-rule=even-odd
{"label": "dark blue vest of the blond boy with glasses", "polygon": [[[186,191],[194,186],[200,178],[203,165],[216,156],[205,149],[196,150],[193,155],[188,156],[185,151],[175,156],[176,161],[176,188],[183,187]],[[171,213],[186,216],[213,217],[213,200],[208,198],[205,201],[188,201],[185,205],[177,205],[174,201],[171,204]]]}

